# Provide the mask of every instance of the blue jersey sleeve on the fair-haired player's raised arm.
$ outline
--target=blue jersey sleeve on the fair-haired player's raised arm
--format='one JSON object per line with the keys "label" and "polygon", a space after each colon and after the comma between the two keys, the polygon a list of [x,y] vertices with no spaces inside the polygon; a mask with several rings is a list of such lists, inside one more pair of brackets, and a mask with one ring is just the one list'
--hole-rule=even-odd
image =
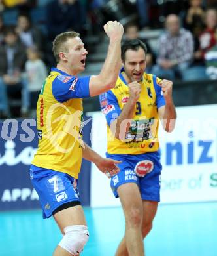
{"label": "blue jersey sleeve on the fair-haired player's raised arm", "polygon": [[90,76],[72,77],[58,75],[52,83],[52,93],[58,102],[66,102],[71,98],[88,98]]}

